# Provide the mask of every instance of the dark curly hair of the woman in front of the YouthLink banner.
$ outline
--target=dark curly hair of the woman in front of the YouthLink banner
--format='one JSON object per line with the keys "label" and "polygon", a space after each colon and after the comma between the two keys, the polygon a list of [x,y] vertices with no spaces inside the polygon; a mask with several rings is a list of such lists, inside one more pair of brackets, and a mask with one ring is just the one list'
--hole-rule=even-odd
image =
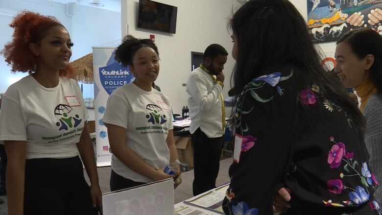
{"label": "dark curly hair of the woman in front of the YouthLink banner", "polygon": [[159,51],[157,46],[149,39],[137,39],[131,35],[127,35],[122,44],[116,50],[115,59],[118,63],[121,63],[122,66],[127,67],[133,65],[133,57],[135,53],[143,47],[149,47],[154,49],[159,57]]}

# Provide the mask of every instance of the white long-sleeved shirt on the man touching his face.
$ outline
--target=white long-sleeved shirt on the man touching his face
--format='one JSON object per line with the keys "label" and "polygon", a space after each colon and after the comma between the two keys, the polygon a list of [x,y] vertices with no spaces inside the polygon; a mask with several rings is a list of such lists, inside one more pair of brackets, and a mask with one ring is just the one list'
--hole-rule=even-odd
{"label": "white long-sleeved shirt on the man touching his face", "polygon": [[200,127],[209,138],[222,137],[220,95],[223,87],[216,84],[211,75],[200,67],[191,72],[186,86],[189,94],[190,133],[193,134]]}

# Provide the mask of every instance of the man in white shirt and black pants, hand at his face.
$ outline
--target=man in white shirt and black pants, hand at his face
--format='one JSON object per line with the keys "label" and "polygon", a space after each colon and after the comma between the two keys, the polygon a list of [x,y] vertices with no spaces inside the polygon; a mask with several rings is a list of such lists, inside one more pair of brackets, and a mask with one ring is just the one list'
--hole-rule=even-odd
{"label": "man in white shirt and black pants, hand at his face", "polygon": [[190,108],[190,133],[194,148],[194,195],[215,188],[223,134],[225,109],[221,91],[228,52],[218,44],[206,48],[203,63],[187,81]]}

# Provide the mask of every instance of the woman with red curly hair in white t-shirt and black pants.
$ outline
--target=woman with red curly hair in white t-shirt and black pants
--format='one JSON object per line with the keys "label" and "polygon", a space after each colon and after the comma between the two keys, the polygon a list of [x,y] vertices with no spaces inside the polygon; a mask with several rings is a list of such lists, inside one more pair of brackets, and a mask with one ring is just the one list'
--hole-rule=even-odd
{"label": "woman with red curly hair in white t-shirt and black pants", "polygon": [[10,26],[12,41],[1,54],[12,72],[29,75],[7,89],[1,105],[8,214],[95,215],[101,191],[88,113],[78,83],[63,76],[71,71],[68,30],[54,17],[29,11],[19,13]]}

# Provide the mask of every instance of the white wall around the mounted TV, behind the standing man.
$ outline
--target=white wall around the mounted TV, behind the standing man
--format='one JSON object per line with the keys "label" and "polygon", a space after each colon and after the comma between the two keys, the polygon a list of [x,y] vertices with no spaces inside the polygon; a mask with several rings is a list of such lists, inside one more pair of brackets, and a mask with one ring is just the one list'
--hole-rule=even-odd
{"label": "white wall around the mounted TV, behind the standing man", "polygon": [[[188,94],[182,83],[187,82],[191,72],[191,51],[204,52],[205,48],[213,43],[220,44],[229,53],[223,71],[225,74],[223,96],[227,96],[235,61],[231,56],[233,44],[226,26],[227,18],[231,15],[237,0],[156,1],[178,7],[175,34],[136,28],[139,0],[127,0],[127,21],[122,20],[122,26],[127,23],[128,33],[138,38],[155,35],[155,44],[161,58],[160,73],[155,83],[169,97],[173,112],[179,114],[182,107],[187,105]],[[122,7],[123,9],[126,8]]]}

